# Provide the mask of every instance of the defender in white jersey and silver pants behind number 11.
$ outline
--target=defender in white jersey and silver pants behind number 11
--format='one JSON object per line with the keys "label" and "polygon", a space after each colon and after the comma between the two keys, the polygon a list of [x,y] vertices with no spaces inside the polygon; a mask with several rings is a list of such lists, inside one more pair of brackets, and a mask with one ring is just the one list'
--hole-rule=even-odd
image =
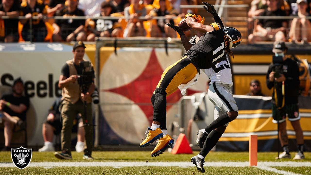
{"label": "defender in white jersey and silver pants behind number 11", "polygon": [[[198,35],[193,36],[190,40],[191,45],[194,45],[197,42],[200,35],[202,35],[202,33],[198,32]],[[182,41],[184,40],[182,39]],[[187,44],[188,43],[183,42],[186,50],[189,48]],[[226,60],[220,61],[212,68],[201,69],[202,72],[211,79],[207,95],[210,101],[215,105],[214,122],[217,120],[219,121],[221,117],[225,117],[228,114],[235,118],[238,116],[238,107],[231,91],[233,83],[230,66],[229,56],[227,55]],[[191,158],[191,162],[193,162],[201,172],[205,172],[203,164],[206,155],[216,145],[229,124],[228,122],[215,127],[216,122],[214,122],[206,128],[198,131],[197,144],[202,149],[198,155]]]}

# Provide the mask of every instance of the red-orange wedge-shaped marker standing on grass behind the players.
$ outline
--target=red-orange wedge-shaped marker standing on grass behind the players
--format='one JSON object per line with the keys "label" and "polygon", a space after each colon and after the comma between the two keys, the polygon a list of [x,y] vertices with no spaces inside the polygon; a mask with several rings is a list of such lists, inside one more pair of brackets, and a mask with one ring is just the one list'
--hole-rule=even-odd
{"label": "red-orange wedge-shaped marker standing on grass behind the players", "polygon": [[172,149],[172,154],[192,154],[192,149],[189,146],[188,140],[185,134],[180,133],[174,148]]}

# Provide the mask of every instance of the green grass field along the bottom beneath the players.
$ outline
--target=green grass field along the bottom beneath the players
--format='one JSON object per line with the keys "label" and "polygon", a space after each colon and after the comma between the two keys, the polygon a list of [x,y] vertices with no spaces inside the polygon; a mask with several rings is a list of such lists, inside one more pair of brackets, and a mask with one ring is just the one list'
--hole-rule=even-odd
{"label": "green grass field along the bottom beneath the players", "polygon": [[[18,174],[31,174],[31,175],[39,175],[39,174],[101,174],[101,175],[113,175],[113,174],[137,174],[137,175],[193,175],[193,174],[202,174],[197,171],[196,167],[193,165],[191,167],[179,167],[179,166],[165,166],[168,163],[174,162],[189,162],[190,158],[196,155],[198,152],[195,151],[193,154],[170,154],[165,152],[158,157],[151,157],[149,151],[103,151],[103,152],[93,152],[92,156],[95,158],[93,161],[86,161],[82,159],[82,153],[72,152],[72,160],[60,160],[54,157],[52,152],[33,152],[32,159],[30,162],[35,164],[40,164],[40,162],[56,162],[59,164],[57,167],[53,166],[39,166],[39,167],[27,167],[23,170],[20,170],[16,167],[6,167],[4,163],[12,163],[10,152],[0,152],[0,175],[18,175]],[[268,167],[271,168],[272,171],[267,171],[264,168],[258,167],[220,167],[220,166],[209,166],[205,165],[206,172],[203,174],[227,174],[227,175],[271,175],[271,174],[287,174],[287,175],[309,175],[311,174],[310,166],[299,166],[299,163],[311,163],[311,153],[304,153],[306,159],[304,160],[275,160],[274,158],[277,156],[276,152],[260,152],[258,153],[258,164],[260,162],[272,162],[272,163],[281,163],[280,167]],[[295,155],[295,152],[291,153],[292,156]],[[208,163],[218,163],[218,162],[227,162],[229,163],[243,163],[248,161],[248,152],[211,152],[207,155],[205,162]],[[286,163],[286,161],[290,161]],[[120,166],[120,168],[114,168],[111,166],[86,166],[86,167],[61,167],[66,166],[66,163],[83,163],[87,162],[92,164],[98,162],[113,162],[114,167]],[[131,166],[131,167],[122,167],[127,162],[134,163],[135,162],[143,162],[146,163],[146,166]],[[148,164],[160,162],[162,166],[148,166]],[[283,165],[284,164],[284,165]],[[292,164],[292,165],[291,165]],[[164,166],[163,166],[164,165]],[[279,171],[281,170],[281,171]],[[279,172],[277,172],[279,171]]]}

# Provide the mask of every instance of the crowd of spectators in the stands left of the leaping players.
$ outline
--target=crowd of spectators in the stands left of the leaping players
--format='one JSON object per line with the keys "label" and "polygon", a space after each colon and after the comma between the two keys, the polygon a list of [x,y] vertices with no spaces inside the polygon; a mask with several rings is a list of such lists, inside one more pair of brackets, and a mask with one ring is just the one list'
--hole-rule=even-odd
{"label": "crowd of spectators in the stands left of the leaping players", "polygon": [[[181,9],[179,5],[197,5],[197,0],[2,0],[0,41],[94,41],[97,36],[177,37],[165,23],[178,24],[186,13],[195,12],[195,9]],[[7,19],[18,16],[26,19]],[[53,16],[97,18],[44,18]]]}

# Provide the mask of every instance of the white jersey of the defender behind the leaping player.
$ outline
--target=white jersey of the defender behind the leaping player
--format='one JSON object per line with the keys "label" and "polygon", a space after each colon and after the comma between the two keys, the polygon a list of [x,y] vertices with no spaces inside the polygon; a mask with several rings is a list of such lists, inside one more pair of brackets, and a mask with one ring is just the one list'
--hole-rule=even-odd
{"label": "white jersey of the defender behind the leaping player", "polygon": [[229,63],[229,56],[227,55],[227,59],[220,61],[215,66],[210,69],[202,69],[203,72],[207,75],[208,78],[211,79],[211,83],[223,83],[228,84],[230,87],[233,85],[232,83],[232,75],[231,75],[231,65]]}

